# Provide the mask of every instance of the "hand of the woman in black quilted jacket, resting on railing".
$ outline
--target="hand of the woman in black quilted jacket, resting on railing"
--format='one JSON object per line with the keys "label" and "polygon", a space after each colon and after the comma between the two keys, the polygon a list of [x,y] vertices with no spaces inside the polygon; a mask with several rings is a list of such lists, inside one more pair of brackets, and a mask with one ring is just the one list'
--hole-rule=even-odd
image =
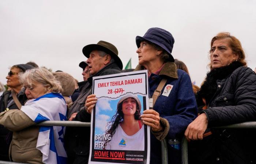
{"label": "hand of the woman in black quilted jacket, resting on railing", "polygon": [[208,120],[205,113],[200,114],[194,121],[192,121],[186,129],[184,135],[188,141],[202,140],[203,134],[207,129]]}

